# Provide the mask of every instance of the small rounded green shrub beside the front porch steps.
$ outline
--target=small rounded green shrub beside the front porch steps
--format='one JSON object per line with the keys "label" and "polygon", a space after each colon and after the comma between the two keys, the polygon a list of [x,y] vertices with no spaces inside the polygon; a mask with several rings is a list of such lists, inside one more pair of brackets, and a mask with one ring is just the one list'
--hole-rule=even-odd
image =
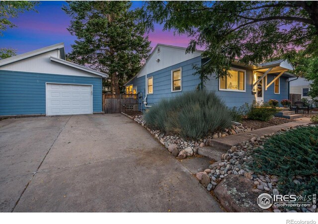
{"label": "small rounded green shrub beside the front porch steps", "polygon": [[260,105],[258,102],[254,101],[247,113],[247,118],[251,120],[268,121],[278,112],[279,109],[272,107],[269,103]]}

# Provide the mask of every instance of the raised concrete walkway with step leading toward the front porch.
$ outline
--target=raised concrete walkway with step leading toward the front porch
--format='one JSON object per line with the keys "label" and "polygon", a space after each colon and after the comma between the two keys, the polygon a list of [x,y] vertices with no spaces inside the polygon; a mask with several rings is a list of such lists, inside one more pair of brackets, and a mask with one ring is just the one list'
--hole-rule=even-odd
{"label": "raised concrete walkway with step leading toward the front porch", "polygon": [[[278,132],[281,129],[286,129],[290,127],[295,127],[298,125],[306,125],[312,123],[310,118],[298,118],[297,121],[288,122],[281,125],[270,126],[266,128],[256,129],[250,132],[244,132],[237,135],[230,135],[223,138],[212,139],[210,140],[210,147],[204,147],[199,150],[199,154],[208,156],[215,160],[220,160],[220,157],[227,150],[231,149],[232,146],[235,146],[244,141],[248,141],[255,136],[264,136],[269,135],[274,132]],[[213,150],[212,150],[213,149]]]}

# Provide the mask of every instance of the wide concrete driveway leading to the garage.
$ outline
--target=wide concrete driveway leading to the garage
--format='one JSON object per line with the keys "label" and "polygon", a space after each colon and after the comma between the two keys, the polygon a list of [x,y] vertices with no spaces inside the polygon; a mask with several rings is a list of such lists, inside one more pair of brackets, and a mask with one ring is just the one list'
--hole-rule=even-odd
{"label": "wide concrete driveway leading to the garage", "polygon": [[120,114],[2,120],[0,212],[222,211],[191,161]]}

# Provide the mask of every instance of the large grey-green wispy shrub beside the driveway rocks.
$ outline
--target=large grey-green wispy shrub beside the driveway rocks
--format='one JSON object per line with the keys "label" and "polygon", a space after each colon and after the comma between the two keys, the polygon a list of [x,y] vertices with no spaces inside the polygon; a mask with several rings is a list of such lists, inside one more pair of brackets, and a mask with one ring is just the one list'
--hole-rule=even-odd
{"label": "large grey-green wispy shrub beside the driveway rocks", "polygon": [[229,128],[231,111],[213,92],[187,92],[161,100],[145,113],[146,124],[165,133],[197,139]]}

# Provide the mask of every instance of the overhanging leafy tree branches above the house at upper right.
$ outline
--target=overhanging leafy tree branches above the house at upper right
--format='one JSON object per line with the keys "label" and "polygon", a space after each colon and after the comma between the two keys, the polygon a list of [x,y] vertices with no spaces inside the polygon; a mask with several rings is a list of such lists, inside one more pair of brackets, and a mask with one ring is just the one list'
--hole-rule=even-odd
{"label": "overhanging leafy tree branches above the house at upper right", "polygon": [[318,55],[318,1],[148,1],[148,27],[163,24],[192,37],[188,52],[204,47],[210,61],[198,73],[229,75],[231,62],[257,65],[295,51]]}

